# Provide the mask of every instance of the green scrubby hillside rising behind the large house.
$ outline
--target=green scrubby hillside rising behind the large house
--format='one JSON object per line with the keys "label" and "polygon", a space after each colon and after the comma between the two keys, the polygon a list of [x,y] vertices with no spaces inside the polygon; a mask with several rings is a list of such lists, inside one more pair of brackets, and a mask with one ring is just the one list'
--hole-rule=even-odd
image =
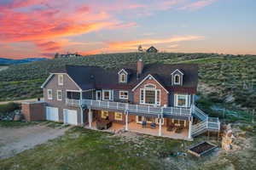
{"label": "green scrubby hillside rising behind the large house", "polygon": [[236,102],[241,107],[256,107],[253,102],[256,100],[256,56],[226,54],[96,54],[11,65],[9,69],[0,71],[0,100],[42,97],[40,86],[49,76],[49,71],[67,64],[111,69],[117,65],[134,64],[140,58],[145,63],[199,64],[201,95],[208,94],[213,102]]}

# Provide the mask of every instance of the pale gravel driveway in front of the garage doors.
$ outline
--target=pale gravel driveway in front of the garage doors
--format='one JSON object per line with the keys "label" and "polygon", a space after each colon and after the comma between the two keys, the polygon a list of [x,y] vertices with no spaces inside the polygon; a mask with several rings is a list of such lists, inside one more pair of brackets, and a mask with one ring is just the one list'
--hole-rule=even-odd
{"label": "pale gravel driveway in front of the garage doors", "polygon": [[0,127],[0,159],[15,156],[49,139],[60,137],[68,128],[48,127],[45,123],[19,128]]}

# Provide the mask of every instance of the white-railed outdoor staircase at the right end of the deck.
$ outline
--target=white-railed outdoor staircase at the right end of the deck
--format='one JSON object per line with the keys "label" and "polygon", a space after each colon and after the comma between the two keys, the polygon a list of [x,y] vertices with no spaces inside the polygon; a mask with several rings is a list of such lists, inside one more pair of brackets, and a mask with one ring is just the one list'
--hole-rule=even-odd
{"label": "white-railed outdoor staircase at the right end of the deck", "polygon": [[201,133],[205,133],[207,131],[219,131],[220,122],[218,120],[218,117],[209,117],[206,113],[201,111],[195,105],[193,105],[192,115],[201,120],[200,123],[192,126],[192,137],[198,136]]}

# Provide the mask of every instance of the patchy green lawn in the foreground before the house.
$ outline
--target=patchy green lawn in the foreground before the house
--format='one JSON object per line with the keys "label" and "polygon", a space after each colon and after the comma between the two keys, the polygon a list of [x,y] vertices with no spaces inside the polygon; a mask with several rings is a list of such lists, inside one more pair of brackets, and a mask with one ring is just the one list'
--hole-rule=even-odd
{"label": "patchy green lawn in the foreground before the house", "polygon": [[[198,143],[206,137],[187,142],[137,133],[114,135],[73,127],[58,139],[0,160],[0,170],[255,169],[255,134],[252,136],[252,132],[244,132],[248,133],[248,139],[237,139],[241,143],[241,150],[215,151],[210,156],[197,158],[175,154],[177,151],[186,152],[190,144]],[[250,140],[252,143],[248,142]]]}

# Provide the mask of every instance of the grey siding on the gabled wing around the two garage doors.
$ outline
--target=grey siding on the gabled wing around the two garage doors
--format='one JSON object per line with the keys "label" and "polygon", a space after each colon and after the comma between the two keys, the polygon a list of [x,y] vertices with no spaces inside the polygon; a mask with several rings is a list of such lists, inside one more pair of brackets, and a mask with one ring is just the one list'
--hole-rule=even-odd
{"label": "grey siding on the gabled wing around the two garage doors", "polygon": [[[52,89],[52,99],[48,99],[47,90]],[[57,90],[61,90],[62,99],[57,100]],[[73,107],[66,105],[67,93],[66,90],[78,90],[79,88],[76,84],[67,77],[66,74],[63,74],[63,85],[58,84],[58,76],[54,75],[48,84],[44,88],[44,101],[46,106],[57,107],[59,109],[59,121],[63,122],[63,109],[75,110],[78,112],[78,123],[81,124],[81,110],[79,107]]]}

